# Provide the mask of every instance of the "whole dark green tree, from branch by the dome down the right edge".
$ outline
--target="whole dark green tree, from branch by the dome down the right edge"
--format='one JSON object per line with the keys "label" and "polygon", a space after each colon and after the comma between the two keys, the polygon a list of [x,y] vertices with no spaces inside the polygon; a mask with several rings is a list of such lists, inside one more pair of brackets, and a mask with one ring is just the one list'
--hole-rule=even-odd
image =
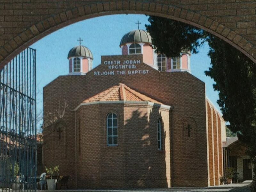
{"label": "whole dark green tree, from branch by the dome down the right edge", "polygon": [[[149,16],[146,28],[152,37],[156,51],[166,56],[176,56],[182,49],[198,52],[203,42],[208,42],[211,67],[205,71],[214,81],[214,90],[219,92],[218,104],[223,118],[232,132],[237,132],[239,140],[248,144],[256,173],[256,64],[230,44],[201,29]],[[161,45],[163,44],[163,45]],[[252,191],[256,191],[256,177]]]}

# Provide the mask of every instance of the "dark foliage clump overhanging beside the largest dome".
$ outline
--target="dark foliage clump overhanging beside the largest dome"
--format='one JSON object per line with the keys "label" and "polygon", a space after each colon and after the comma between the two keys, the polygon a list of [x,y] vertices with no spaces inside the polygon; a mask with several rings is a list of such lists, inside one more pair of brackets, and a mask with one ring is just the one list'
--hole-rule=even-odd
{"label": "dark foliage clump overhanging beside the largest dome", "polygon": [[179,56],[181,50],[197,53],[203,43],[202,29],[156,16],[149,16],[148,21],[150,25],[146,25],[146,29],[153,37],[152,44],[167,57]]}

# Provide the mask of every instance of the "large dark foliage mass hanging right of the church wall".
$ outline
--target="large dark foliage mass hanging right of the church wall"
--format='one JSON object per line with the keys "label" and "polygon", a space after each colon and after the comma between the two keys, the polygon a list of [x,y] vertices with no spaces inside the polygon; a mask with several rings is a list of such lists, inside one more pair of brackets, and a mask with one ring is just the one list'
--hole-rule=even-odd
{"label": "large dark foliage mass hanging right of the church wall", "polygon": [[242,52],[216,36],[209,35],[208,44],[212,67],[205,71],[216,82],[217,101],[228,128],[250,143],[256,135],[256,65]]}

